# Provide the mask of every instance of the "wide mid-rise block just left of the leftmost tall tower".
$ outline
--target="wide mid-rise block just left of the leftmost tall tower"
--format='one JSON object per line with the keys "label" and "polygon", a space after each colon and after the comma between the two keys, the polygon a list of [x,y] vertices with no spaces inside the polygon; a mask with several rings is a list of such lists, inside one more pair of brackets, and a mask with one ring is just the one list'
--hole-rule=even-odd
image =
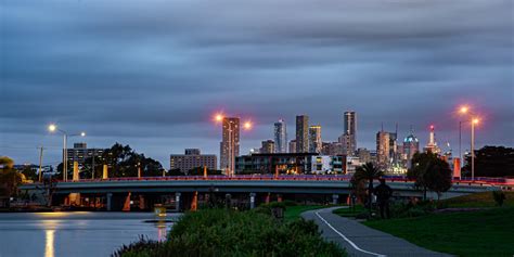
{"label": "wide mid-rise block just left of the leftmost tall tower", "polygon": [[202,154],[200,149],[187,149],[185,154],[171,154],[169,156],[169,169],[180,169],[181,172],[188,172],[198,167],[217,169],[217,156],[214,154]]}

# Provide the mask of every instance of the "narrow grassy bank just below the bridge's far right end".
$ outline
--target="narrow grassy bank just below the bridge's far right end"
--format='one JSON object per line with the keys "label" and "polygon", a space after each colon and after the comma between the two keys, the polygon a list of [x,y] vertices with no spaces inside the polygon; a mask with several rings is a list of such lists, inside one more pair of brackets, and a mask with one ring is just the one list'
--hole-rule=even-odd
{"label": "narrow grassy bank just below the bridge's far right end", "polygon": [[[505,202],[503,202],[503,205],[514,207],[514,192],[504,193]],[[441,203],[444,203],[444,205],[448,206],[449,208],[478,208],[496,206],[494,200],[492,198],[492,192],[475,193],[449,200],[441,200]]]}

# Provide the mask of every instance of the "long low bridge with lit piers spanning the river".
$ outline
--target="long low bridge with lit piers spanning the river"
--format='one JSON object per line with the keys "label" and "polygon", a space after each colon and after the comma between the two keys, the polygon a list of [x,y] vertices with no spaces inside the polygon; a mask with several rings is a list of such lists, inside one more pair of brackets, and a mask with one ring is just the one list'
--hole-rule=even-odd
{"label": "long low bridge with lit piers spanning the river", "polygon": [[[395,191],[395,197],[421,197],[414,182],[404,177],[384,177]],[[270,201],[306,201],[337,203],[350,193],[351,176],[177,176],[110,178],[57,182],[52,205],[81,205],[107,210],[126,209],[136,205],[145,209],[155,204],[172,205],[175,209],[195,208],[208,201],[208,195],[230,197],[236,203],[255,206]],[[504,179],[454,180],[452,188],[440,195],[449,198],[459,195],[512,187],[514,181]],[[23,184],[21,190],[44,194],[41,183]],[[437,198],[434,193],[429,197]]]}

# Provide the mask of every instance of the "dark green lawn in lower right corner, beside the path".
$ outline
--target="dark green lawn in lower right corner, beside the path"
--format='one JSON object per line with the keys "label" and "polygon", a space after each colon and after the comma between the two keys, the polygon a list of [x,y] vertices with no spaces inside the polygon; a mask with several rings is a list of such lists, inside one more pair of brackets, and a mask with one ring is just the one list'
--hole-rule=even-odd
{"label": "dark green lawn in lower right corner, beside the path", "polygon": [[514,207],[374,220],[364,224],[436,252],[458,256],[514,255]]}

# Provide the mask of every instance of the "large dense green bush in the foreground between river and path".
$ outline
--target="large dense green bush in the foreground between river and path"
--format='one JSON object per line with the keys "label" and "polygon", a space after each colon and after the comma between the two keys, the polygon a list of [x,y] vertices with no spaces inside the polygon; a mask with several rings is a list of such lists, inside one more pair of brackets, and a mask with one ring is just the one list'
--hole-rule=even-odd
{"label": "large dense green bush in the foreground between river and path", "polygon": [[345,256],[322,240],[313,221],[280,222],[258,211],[207,209],[185,214],[158,247],[118,256]]}

